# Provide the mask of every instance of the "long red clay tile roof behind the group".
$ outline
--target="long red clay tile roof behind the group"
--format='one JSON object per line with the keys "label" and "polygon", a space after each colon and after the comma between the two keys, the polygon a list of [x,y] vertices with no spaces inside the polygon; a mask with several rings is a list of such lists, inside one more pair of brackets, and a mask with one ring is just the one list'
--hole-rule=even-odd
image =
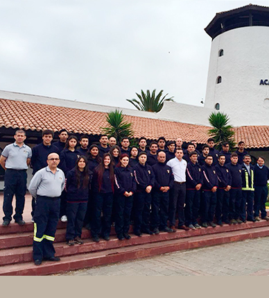
{"label": "long red clay tile roof behind the group", "polygon": [[[60,131],[65,128],[73,133],[96,135],[106,126],[105,115],[91,110],[0,99],[0,127],[12,129]],[[132,123],[135,138],[144,136],[155,140],[164,136],[166,140],[175,140],[180,137],[185,142],[195,139],[200,144],[205,144],[209,138],[209,126],[129,115],[125,115],[125,119]],[[243,140],[247,148],[269,147],[269,126],[242,126],[235,131],[236,142]]]}

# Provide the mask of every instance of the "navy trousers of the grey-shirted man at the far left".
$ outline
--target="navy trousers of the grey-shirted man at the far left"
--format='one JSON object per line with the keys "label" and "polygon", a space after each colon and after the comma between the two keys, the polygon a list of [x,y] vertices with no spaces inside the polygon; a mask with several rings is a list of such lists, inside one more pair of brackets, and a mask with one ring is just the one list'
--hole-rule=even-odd
{"label": "navy trousers of the grey-shirted man at the far left", "polygon": [[3,220],[12,220],[12,199],[14,194],[16,197],[16,208],[13,218],[15,221],[22,220],[27,183],[26,170],[6,169],[4,183],[3,213],[5,216],[3,217]]}

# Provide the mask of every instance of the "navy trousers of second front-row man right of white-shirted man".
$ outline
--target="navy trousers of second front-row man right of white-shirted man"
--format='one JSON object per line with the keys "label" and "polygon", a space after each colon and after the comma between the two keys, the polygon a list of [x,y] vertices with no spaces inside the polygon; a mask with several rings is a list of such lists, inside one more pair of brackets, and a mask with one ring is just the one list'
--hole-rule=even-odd
{"label": "navy trousers of second front-row man right of white-shirted man", "polygon": [[202,222],[213,222],[216,210],[216,192],[203,191],[201,200]]}

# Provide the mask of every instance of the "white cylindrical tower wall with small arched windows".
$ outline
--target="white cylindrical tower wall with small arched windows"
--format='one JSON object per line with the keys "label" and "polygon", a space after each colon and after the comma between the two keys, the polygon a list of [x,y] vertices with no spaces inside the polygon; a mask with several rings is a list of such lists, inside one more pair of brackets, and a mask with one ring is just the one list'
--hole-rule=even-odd
{"label": "white cylindrical tower wall with small arched windows", "polygon": [[[219,103],[234,126],[269,125],[269,85],[260,85],[269,79],[268,53],[269,27],[236,28],[214,38],[205,108]],[[218,76],[222,82],[216,84]]]}

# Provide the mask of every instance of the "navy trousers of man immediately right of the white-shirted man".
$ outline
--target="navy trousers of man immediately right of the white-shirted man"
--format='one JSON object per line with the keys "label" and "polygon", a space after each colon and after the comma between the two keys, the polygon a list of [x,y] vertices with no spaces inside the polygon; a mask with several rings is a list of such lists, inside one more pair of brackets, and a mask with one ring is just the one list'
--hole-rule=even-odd
{"label": "navy trousers of man immediately right of the white-shirted man", "polygon": [[200,190],[186,190],[185,224],[198,224],[198,211],[200,209]]}

